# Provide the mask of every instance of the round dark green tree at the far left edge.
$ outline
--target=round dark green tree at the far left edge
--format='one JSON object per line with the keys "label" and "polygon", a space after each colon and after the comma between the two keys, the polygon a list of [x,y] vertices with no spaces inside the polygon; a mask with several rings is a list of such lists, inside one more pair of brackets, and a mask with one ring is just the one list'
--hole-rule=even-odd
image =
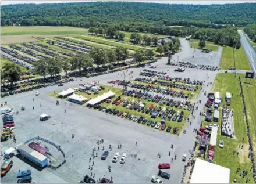
{"label": "round dark green tree at the far left edge", "polygon": [[22,74],[22,70],[20,66],[15,63],[5,63],[3,66],[3,74],[1,70],[1,78],[6,78],[10,82],[16,82],[20,79],[20,74]]}

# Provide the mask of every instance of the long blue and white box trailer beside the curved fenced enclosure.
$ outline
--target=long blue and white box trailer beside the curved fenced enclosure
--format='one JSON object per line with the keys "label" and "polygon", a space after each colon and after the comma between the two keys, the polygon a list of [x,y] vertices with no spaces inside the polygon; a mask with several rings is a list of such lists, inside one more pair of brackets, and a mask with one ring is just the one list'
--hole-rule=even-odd
{"label": "long blue and white box trailer beside the curved fenced enclosure", "polygon": [[27,145],[20,145],[19,147],[16,147],[16,149],[21,156],[29,159],[40,167],[45,167],[48,164],[48,158],[46,156],[31,149]]}

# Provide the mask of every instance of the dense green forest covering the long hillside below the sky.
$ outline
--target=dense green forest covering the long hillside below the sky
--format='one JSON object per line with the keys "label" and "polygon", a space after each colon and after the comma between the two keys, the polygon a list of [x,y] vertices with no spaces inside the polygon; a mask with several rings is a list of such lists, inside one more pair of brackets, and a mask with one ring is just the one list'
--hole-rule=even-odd
{"label": "dense green forest covering the long hillside below the sky", "polygon": [[[139,13],[138,13],[139,12]],[[1,6],[1,26],[117,27],[169,34],[169,26],[222,28],[256,23],[256,3],[168,5],[141,2],[51,3]],[[186,28],[184,28],[186,30]],[[173,30],[179,35],[179,30]],[[184,30],[182,31],[184,33]]]}

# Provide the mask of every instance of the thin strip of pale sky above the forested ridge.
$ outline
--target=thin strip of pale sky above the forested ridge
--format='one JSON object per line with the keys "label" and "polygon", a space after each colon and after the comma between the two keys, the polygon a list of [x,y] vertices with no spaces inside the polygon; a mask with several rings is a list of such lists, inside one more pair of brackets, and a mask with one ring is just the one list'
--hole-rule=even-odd
{"label": "thin strip of pale sky above the forested ridge", "polygon": [[[11,4],[42,4],[42,3],[67,3],[67,2],[86,2],[86,1],[1,1],[1,5],[11,5]],[[254,2],[256,1],[140,1],[137,2],[151,2],[151,3],[166,3],[166,4],[194,4],[194,5],[211,5],[211,4],[227,4],[227,3],[244,3],[244,2]]]}

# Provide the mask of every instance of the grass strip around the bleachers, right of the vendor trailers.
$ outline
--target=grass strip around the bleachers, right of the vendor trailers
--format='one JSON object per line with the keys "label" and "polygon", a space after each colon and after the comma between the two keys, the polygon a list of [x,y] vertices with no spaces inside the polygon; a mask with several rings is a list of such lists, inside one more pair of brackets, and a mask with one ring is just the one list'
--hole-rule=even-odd
{"label": "grass strip around the bleachers, right of the vendor trailers", "polygon": [[[222,165],[223,167],[230,168],[230,182],[233,183],[234,179],[237,179],[237,183],[245,183],[246,178],[240,177],[239,174],[236,174],[236,168],[240,167],[241,171],[248,170],[248,176],[251,176],[251,172],[249,171],[251,168],[251,161],[248,156],[248,139],[247,139],[247,128],[246,128],[246,122],[243,114],[243,102],[242,99],[237,97],[237,95],[240,93],[239,91],[236,91],[237,88],[239,88],[239,82],[238,82],[238,76],[241,78],[244,78],[244,74],[237,74],[237,77],[234,77],[233,73],[221,73],[218,74],[214,81],[214,86],[212,88],[212,91],[216,92],[219,91],[221,97],[224,99],[224,101],[221,103],[221,108],[219,109],[220,115],[222,115],[221,110],[223,104],[226,104],[225,102],[225,94],[226,92],[233,93],[232,96],[232,103],[230,105],[230,109],[234,111],[234,129],[235,129],[235,137],[227,138],[226,136],[221,135],[221,130],[218,132],[218,140],[217,143],[219,143],[219,140],[224,140],[224,148],[221,149],[218,146],[215,150],[215,163]],[[245,84],[243,84],[245,85]],[[253,85],[251,88],[254,88],[255,91],[255,81],[253,82]],[[248,111],[251,113],[251,120],[256,119],[256,116],[253,114],[253,111],[255,112],[255,99],[253,98],[254,93],[245,93],[246,99],[251,102],[251,104],[248,106]],[[247,102],[248,103],[248,102]],[[254,117],[252,117],[254,116]],[[217,123],[221,126],[221,117],[219,118],[219,122]],[[203,125],[208,125],[207,122],[203,121]],[[251,121],[251,135],[254,135],[255,140],[255,124],[253,125],[253,121]],[[242,139],[244,138],[244,142],[242,142]],[[244,145],[243,149],[239,148],[239,144]],[[236,150],[239,152],[239,156],[237,157],[236,154],[233,155],[233,151]],[[251,179],[248,183],[253,183],[253,180]]]}

